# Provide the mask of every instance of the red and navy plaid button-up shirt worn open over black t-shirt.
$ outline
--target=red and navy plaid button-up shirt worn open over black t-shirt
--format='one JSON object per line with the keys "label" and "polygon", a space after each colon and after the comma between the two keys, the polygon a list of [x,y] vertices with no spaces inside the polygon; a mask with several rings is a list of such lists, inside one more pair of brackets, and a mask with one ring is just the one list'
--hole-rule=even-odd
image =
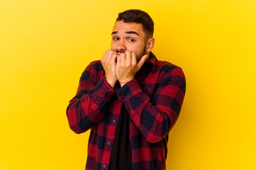
{"label": "red and navy plaid button-up shirt worn open over black t-shirt", "polygon": [[181,68],[158,61],[150,52],[135,78],[122,88],[106,81],[100,61],[83,72],[67,107],[75,133],[91,130],[86,170],[106,170],[121,106],[130,114],[133,170],[165,170],[168,133],[180,114],[186,81]]}

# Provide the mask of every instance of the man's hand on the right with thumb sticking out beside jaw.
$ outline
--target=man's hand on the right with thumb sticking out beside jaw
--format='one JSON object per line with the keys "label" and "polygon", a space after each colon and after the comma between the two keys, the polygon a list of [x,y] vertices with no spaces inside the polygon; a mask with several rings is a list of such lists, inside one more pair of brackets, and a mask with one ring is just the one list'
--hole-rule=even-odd
{"label": "man's hand on the right with thumb sticking out beside jaw", "polygon": [[[119,82],[131,81],[141,66],[145,63],[147,55],[141,57],[137,63],[135,52],[126,51],[117,56],[116,75]],[[124,84],[121,84],[121,86]]]}

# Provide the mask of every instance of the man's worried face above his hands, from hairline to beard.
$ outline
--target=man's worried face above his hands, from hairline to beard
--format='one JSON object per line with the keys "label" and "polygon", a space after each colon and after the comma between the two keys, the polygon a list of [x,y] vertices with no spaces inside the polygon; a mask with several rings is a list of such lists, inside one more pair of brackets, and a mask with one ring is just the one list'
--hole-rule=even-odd
{"label": "man's worried face above his hands, from hairline to beard", "polygon": [[111,50],[119,55],[121,52],[135,52],[137,61],[146,53],[146,34],[142,25],[117,21],[113,27]]}

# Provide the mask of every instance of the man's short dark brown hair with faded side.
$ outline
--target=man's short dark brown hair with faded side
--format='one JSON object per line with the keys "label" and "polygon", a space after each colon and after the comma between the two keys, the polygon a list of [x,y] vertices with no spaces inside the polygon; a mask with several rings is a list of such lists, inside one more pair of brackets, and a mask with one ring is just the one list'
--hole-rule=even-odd
{"label": "man's short dark brown hair with faded side", "polygon": [[138,9],[130,9],[118,14],[117,21],[123,21],[126,23],[134,22],[137,24],[141,24],[142,28],[146,32],[146,37],[153,37],[154,33],[154,22],[152,18],[148,15],[148,13],[138,10]]}

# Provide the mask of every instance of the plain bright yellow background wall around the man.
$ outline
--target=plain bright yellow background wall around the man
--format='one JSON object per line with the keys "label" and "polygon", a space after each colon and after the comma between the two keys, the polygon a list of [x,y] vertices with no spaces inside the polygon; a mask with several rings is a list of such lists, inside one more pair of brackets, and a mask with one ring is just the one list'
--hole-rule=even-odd
{"label": "plain bright yellow background wall around the man", "polygon": [[84,169],[89,133],[65,110],[126,9],[186,75],[167,170],[256,170],[256,0],[1,0],[0,170]]}

